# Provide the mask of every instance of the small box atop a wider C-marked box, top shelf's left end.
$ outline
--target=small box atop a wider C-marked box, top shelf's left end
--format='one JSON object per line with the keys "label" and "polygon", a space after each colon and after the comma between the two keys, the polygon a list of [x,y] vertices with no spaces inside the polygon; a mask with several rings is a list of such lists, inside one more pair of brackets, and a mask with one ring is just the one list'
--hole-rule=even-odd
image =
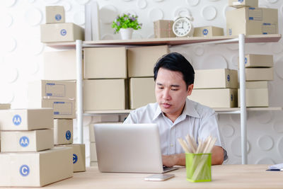
{"label": "small box atop a wider C-marked box, top shelf's left end", "polygon": [[65,23],[64,6],[46,6],[45,11],[46,24],[40,25],[41,42],[84,40],[83,28],[74,23]]}

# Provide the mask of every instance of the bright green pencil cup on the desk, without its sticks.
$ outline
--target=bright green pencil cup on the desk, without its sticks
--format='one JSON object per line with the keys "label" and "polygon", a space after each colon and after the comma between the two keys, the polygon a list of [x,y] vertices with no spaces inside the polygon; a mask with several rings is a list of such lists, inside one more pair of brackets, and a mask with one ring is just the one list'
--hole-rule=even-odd
{"label": "bright green pencil cup on the desk, without its sticks", "polygon": [[212,154],[185,154],[187,181],[212,181]]}

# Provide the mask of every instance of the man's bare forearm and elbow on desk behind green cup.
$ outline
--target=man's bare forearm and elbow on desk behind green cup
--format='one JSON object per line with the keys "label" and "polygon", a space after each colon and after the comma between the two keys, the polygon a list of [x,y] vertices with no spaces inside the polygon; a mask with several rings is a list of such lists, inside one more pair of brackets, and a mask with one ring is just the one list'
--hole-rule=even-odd
{"label": "man's bare forearm and elbow on desk behind green cup", "polygon": [[[224,161],[224,149],[214,146],[212,149],[212,165],[221,165]],[[185,154],[162,156],[163,166],[185,166]]]}

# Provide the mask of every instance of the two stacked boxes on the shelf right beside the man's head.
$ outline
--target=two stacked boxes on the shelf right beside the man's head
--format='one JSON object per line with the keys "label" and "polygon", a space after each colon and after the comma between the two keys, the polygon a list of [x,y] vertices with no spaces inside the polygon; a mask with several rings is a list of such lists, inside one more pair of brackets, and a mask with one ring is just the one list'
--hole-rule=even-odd
{"label": "two stacked boxes on the shelf right beside the man's head", "polygon": [[195,84],[188,96],[211,108],[234,108],[238,106],[238,71],[233,69],[195,70]]}

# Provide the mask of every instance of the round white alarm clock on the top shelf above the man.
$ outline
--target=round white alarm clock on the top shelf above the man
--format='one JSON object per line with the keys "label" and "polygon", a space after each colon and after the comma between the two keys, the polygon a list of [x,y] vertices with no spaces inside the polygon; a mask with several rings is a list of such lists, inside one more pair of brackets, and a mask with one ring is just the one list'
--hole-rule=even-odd
{"label": "round white alarm clock on the top shelf above the man", "polygon": [[192,37],[194,27],[192,26],[193,18],[179,17],[173,23],[173,33],[177,37]]}

